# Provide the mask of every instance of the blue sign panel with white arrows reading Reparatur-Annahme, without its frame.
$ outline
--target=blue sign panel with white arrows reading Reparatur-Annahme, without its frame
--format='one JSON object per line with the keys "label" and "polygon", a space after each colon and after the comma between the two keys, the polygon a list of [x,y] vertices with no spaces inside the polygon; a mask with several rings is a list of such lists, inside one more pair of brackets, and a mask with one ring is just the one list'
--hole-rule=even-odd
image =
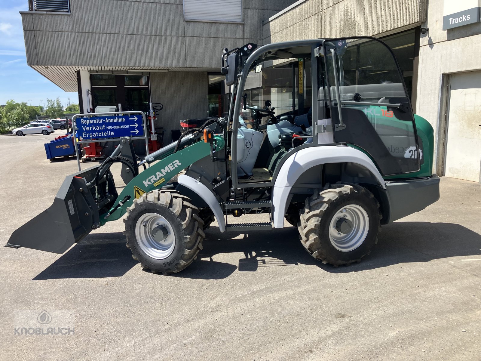
{"label": "blue sign panel with white arrows reading Reparatur-Annahme, without its frame", "polygon": [[75,126],[77,136],[82,140],[144,135],[143,119],[139,114],[76,118]]}

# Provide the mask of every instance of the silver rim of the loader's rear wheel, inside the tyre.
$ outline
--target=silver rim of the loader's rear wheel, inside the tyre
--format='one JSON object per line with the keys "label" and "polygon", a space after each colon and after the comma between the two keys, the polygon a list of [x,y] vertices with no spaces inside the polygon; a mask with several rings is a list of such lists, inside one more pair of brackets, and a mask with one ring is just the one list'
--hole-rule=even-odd
{"label": "silver rim of the loader's rear wheel, inside the tyre", "polygon": [[361,206],[350,204],[340,208],[331,219],[329,239],[337,250],[349,252],[362,245],[368,231],[369,217],[366,210]]}

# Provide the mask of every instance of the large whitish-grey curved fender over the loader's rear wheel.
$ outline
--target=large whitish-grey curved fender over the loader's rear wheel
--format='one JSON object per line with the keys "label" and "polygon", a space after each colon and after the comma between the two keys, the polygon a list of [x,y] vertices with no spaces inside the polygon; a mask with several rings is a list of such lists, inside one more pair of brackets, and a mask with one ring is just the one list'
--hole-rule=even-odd
{"label": "large whitish-grey curved fender over the loader's rear wheel", "polygon": [[274,183],[271,197],[274,228],[284,227],[284,214],[288,206],[287,200],[291,188],[304,171],[319,164],[345,162],[357,163],[366,167],[376,177],[380,186],[386,188],[378,168],[360,150],[345,145],[325,145],[301,149],[287,158]]}

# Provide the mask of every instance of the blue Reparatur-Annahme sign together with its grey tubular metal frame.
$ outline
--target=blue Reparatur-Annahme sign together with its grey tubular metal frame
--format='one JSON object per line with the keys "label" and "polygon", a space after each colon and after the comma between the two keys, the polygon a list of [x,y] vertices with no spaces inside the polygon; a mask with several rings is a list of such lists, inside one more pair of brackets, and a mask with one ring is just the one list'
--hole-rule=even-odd
{"label": "blue Reparatur-Annahme sign together with its grey tubular metal frame", "polygon": [[76,114],[72,117],[72,127],[78,170],[81,169],[77,143],[119,142],[121,137],[131,137],[132,140],[145,139],[145,150],[149,155],[149,140],[143,112]]}

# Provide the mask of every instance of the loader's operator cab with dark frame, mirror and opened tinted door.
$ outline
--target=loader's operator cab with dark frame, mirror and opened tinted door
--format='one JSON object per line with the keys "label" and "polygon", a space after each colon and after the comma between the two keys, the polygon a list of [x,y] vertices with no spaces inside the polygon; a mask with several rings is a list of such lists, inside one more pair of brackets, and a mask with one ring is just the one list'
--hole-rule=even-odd
{"label": "loader's operator cab with dark frame, mirror and opened tinted door", "polygon": [[422,151],[403,76],[379,39],[269,44],[247,60],[235,50],[223,59],[233,85],[229,124],[238,185],[269,183],[300,146],[354,146],[384,176],[419,170]]}

